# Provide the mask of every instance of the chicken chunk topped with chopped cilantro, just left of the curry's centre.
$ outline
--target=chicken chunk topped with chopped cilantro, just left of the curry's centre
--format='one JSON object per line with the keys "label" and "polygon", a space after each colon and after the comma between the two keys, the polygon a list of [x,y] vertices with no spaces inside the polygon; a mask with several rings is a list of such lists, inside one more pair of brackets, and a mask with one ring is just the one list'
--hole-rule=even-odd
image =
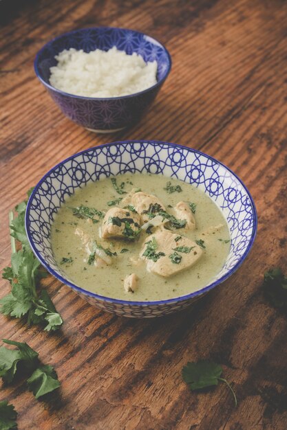
{"label": "chicken chunk topped with chopped cilantro, just left of the curry's centre", "polygon": [[134,239],[140,227],[140,216],[120,207],[111,207],[103,219],[101,236],[104,239]]}

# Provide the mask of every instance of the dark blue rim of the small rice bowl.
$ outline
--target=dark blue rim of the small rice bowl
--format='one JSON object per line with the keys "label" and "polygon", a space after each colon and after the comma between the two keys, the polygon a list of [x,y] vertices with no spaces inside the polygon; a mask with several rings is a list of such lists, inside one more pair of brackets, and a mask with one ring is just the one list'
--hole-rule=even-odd
{"label": "dark blue rim of the small rice bowl", "polygon": [[[118,97],[87,97],[86,95],[76,95],[76,94],[66,93],[65,91],[62,91],[61,89],[57,89],[57,88],[53,87],[49,82],[46,82],[42,78],[41,73],[39,71],[39,67],[38,67],[39,56],[41,55],[43,50],[48,45],[50,45],[51,43],[53,43],[54,41],[58,40],[59,38],[61,38],[63,36],[69,36],[70,34],[74,34],[76,32],[83,32],[86,30],[98,30],[98,29],[124,30],[127,32],[133,32],[136,34],[142,34],[143,36],[149,37],[152,41],[156,41],[156,43],[164,49],[164,52],[167,54],[167,58],[169,59],[169,67],[165,71],[164,76],[162,76],[162,78],[160,78],[160,80],[158,80],[156,82],[156,84],[154,84],[152,87],[149,87],[149,88],[144,89],[142,91],[138,91],[137,93],[132,93],[132,94],[128,94],[128,95],[120,95]],[[171,71],[171,65],[172,65],[171,54],[169,54],[169,51],[167,50],[167,48],[160,41],[158,41],[156,38],[151,37],[148,34],[145,34],[143,32],[138,32],[138,30],[132,30],[130,28],[124,28],[124,27],[109,27],[109,26],[105,26],[105,25],[98,26],[98,27],[79,28],[78,30],[72,30],[72,32],[66,32],[66,33],[60,34],[59,36],[56,36],[56,37],[52,38],[50,41],[48,41],[47,43],[45,43],[45,45],[43,45],[43,47],[41,47],[41,49],[39,49],[39,51],[36,53],[36,56],[34,58],[34,71],[35,71],[36,77],[40,80],[40,82],[42,82],[43,85],[45,85],[45,87],[47,87],[51,91],[54,91],[54,92],[59,93],[61,95],[65,95],[66,97],[69,96],[69,97],[80,99],[80,100],[122,100],[122,99],[132,98],[132,97],[135,97],[137,95],[147,93],[148,91],[151,91],[152,89],[156,89],[157,87],[160,87],[163,84],[163,82],[167,79],[167,76],[169,76],[169,72]]]}

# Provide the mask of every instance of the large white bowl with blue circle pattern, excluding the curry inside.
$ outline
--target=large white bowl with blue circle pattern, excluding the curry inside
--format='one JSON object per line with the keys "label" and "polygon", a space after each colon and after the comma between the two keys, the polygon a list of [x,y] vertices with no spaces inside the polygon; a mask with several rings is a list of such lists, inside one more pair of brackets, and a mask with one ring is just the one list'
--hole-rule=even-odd
{"label": "large white bowl with blue circle pattern, excluding the curry inside", "polygon": [[[200,291],[156,302],[111,299],[76,286],[57,266],[50,230],[59,207],[88,182],[125,172],[164,174],[191,183],[221,208],[231,232],[231,250],[220,273]],[[257,214],[242,181],[209,155],[167,142],[127,141],[84,150],[47,172],[30,196],[25,226],[30,245],[43,266],[90,304],[125,317],[159,317],[186,308],[240,267],[255,239]]]}

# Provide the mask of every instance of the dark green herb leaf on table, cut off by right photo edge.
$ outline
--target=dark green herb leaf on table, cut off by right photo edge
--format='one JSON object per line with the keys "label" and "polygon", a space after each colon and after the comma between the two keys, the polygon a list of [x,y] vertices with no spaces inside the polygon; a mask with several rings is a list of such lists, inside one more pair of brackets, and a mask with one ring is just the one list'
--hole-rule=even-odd
{"label": "dark green herb leaf on table, cut off by right photo edge", "polygon": [[279,267],[264,273],[264,291],[273,306],[287,306],[287,276]]}

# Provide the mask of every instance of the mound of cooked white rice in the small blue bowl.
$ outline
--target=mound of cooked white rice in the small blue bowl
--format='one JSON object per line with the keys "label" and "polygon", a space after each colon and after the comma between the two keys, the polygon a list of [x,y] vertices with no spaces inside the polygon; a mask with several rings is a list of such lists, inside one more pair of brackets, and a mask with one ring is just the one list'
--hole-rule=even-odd
{"label": "mound of cooked white rice in the small blue bowl", "polygon": [[142,56],[127,55],[112,47],[109,51],[83,52],[64,49],[50,68],[50,84],[74,95],[119,97],[138,93],[156,84],[156,61],[145,63]]}

